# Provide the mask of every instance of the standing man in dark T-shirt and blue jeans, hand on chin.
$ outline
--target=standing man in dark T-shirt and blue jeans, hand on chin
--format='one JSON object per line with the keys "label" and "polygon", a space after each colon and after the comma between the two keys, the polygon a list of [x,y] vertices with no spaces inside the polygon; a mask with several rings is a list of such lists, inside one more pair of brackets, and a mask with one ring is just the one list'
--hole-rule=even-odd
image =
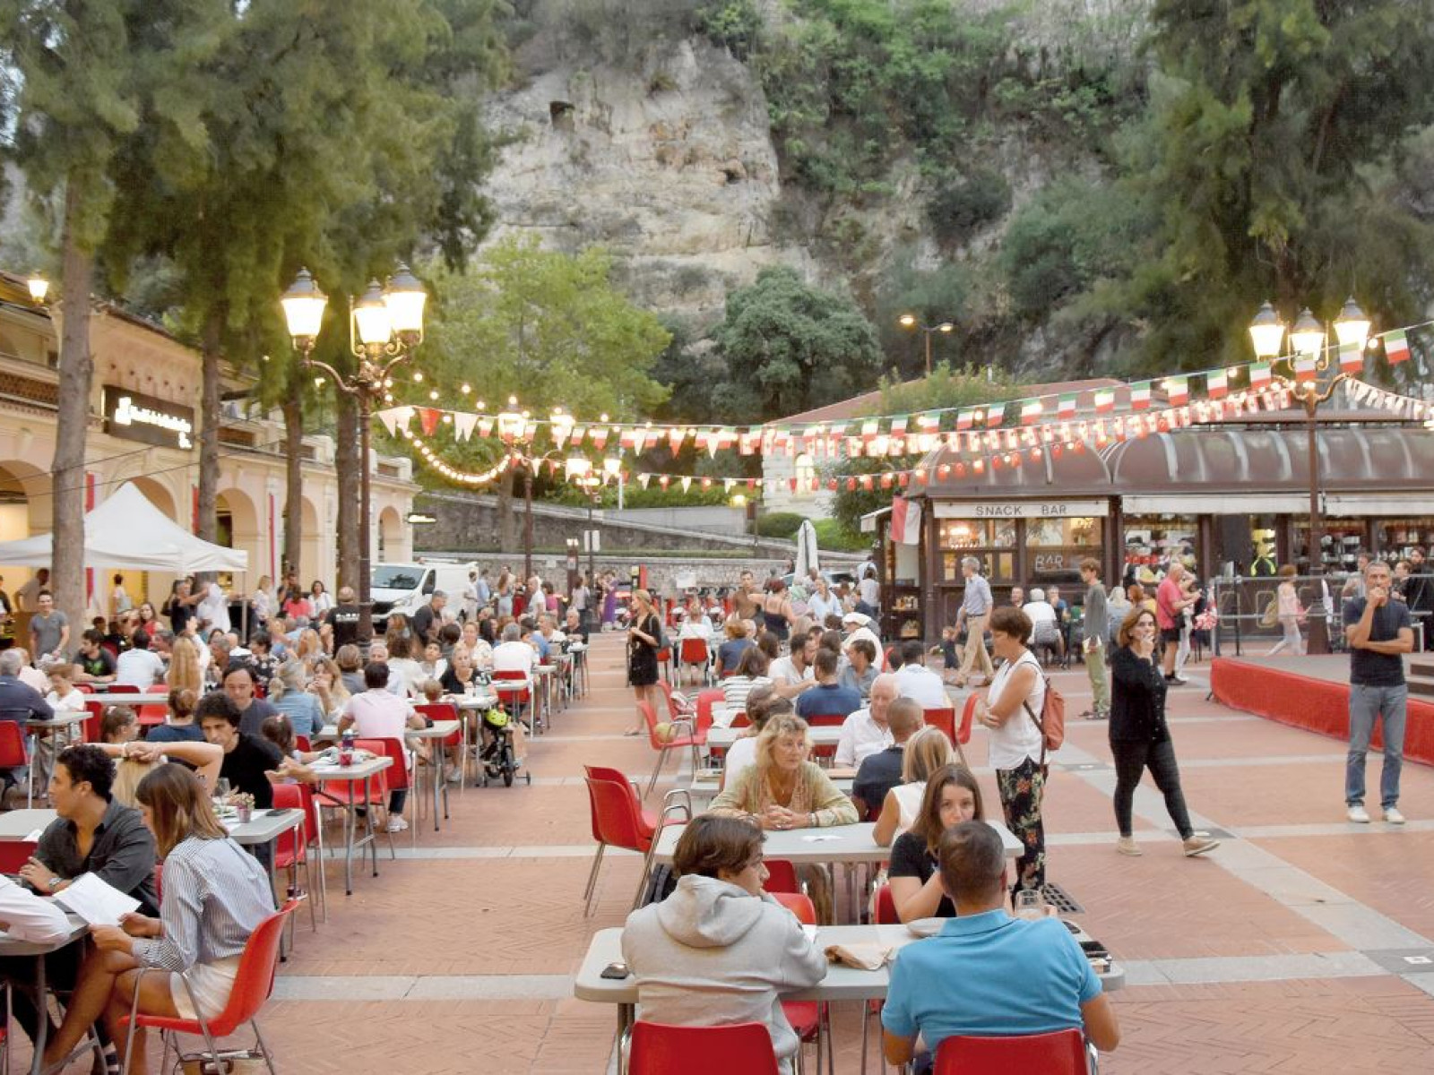
{"label": "standing man in dark T-shirt and blue jeans, hand on chin", "polygon": [[1407,605],[1390,599],[1390,566],[1372,560],[1364,572],[1364,598],[1345,602],[1349,642],[1349,754],[1345,758],[1347,817],[1369,823],[1364,808],[1364,758],[1377,721],[1384,721],[1384,768],[1380,806],[1384,820],[1404,824],[1400,813],[1400,770],[1404,763],[1404,718],[1410,688],[1404,682],[1404,654],[1414,649],[1414,626]]}

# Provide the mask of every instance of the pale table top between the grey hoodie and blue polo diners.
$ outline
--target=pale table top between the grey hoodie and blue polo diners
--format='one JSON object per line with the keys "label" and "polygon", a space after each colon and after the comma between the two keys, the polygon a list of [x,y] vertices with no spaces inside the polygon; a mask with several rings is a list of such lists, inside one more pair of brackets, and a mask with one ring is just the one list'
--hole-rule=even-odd
{"label": "pale table top between the grey hoodie and blue polo diners", "polygon": [[[1077,936],[1077,940],[1084,935]],[[889,945],[893,949],[919,943],[905,926],[820,926],[816,933],[816,943],[827,945]],[[621,927],[598,930],[588,945],[588,952],[582,957],[582,966],[572,983],[572,995],[579,1000],[595,1000],[598,1003],[634,1005],[637,1003],[637,978],[624,979],[602,978],[602,969],[609,963],[622,960],[622,930]],[[1126,983],[1126,972],[1116,963],[1110,970],[1098,975],[1107,992],[1121,989]],[[891,985],[891,963],[880,970],[858,970],[849,966],[829,963],[826,978],[810,989],[793,993],[783,993],[784,1000],[880,1000],[886,996]]]}

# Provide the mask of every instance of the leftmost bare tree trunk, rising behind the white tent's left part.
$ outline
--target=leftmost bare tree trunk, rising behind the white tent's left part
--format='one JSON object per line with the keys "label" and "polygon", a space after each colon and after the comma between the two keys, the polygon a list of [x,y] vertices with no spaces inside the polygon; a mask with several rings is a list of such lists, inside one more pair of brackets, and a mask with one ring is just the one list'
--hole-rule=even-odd
{"label": "leftmost bare tree trunk, rising behind the white tent's left part", "polygon": [[[85,624],[85,440],[89,431],[90,383],[95,357],[89,350],[90,290],[95,255],[83,249],[76,235],[79,205],[85,198],[80,179],[69,178],[65,192],[63,268],[60,295],[60,381],[52,464],[52,509],[54,549],[50,589],[54,606],[70,621],[70,644],[79,644]],[[29,645],[29,639],[24,641]],[[30,655],[37,656],[37,654]]]}

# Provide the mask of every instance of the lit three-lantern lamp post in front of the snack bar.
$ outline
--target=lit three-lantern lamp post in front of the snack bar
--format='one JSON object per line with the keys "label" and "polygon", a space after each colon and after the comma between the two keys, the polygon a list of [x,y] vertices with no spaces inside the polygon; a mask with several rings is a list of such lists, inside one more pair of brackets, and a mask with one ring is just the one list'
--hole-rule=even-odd
{"label": "lit three-lantern lamp post in front of the snack bar", "polygon": [[[1341,344],[1357,344],[1362,351],[1369,338],[1369,318],[1359,308],[1359,304],[1354,301],[1352,295],[1344,304],[1339,317],[1335,318],[1334,328],[1335,337]],[[1279,357],[1285,340],[1285,325],[1269,302],[1265,302],[1255,315],[1255,320],[1250,321],[1249,333],[1250,341],[1255,345],[1255,354],[1259,358]],[[1291,347],[1296,355],[1304,355],[1306,361],[1314,363],[1315,370],[1314,380],[1302,381],[1296,377],[1292,393],[1305,408],[1305,431],[1309,452],[1309,466],[1306,467],[1309,472],[1309,575],[1316,582],[1322,582],[1325,573],[1324,520],[1319,510],[1319,404],[1334,396],[1335,388],[1341,383],[1349,380],[1349,374],[1336,370],[1326,384],[1321,384],[1321,377],[1329,368],[1328,340],[1325,327],[1308,308],[1289,327]],[[1315,595],[1315,599],[1319,601],[1325,615],[1309,618],[1309,645],[1306,646],[1306,652],[1328,654],[1329,621],[1322,589]]]}

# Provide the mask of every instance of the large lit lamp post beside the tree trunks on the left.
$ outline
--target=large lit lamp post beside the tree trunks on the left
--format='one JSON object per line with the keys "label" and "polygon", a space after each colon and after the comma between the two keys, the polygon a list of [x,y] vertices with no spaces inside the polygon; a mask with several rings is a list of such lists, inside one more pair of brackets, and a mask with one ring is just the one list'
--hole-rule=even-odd
{"label": "large lit lamp post beside the tree trunks on the left", "polygon": [[373,598],[370,589],[373,527],[370,520],[371,476],[370,441],[374,401],[381,398],[393,371],[413,357],[423,343],[423,308],[427,291],[423,284],[399,264],[387,284],[369,281],[363,295],[348,300],[348,350],[358,360],[358,368],[344,377],[326,361],[314,358],[314,344],[323,324],[328,297],[318,290],[314,277],[301,268],[294,282],[280,297],[284,320],[294,348],[303,355],[304,367],[321,370],[340,391],[353,396],[358,404],[358,644],[364,654],[373,641]]}

